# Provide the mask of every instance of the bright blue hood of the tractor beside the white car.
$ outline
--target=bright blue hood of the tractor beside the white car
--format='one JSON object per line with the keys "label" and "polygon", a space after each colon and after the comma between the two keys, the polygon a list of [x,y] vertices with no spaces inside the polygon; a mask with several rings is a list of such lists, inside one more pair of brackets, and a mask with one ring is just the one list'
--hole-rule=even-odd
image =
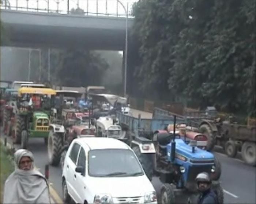
{"label": "bright blue hood of the tractor beside the white car", "polygon": [[[192,146],[187,145],[182,139],[176,139],[176,154],[180,154],[189,160],[214,160],[214,155],[206,150],[195,147],[195,152],[192,152]],[[168,153],[171,152],[171,143],[167,145]]]}

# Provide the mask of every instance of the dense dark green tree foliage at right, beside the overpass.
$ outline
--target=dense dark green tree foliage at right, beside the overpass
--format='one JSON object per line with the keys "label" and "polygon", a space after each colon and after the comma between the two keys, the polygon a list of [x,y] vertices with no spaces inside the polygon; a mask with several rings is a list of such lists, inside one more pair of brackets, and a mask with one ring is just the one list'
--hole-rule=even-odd
{"label": "dense dark green tree foliage at right, beside the overpass", "polygon": [[140,87],[255,113],[255,14],[255,0],[138,1]]}

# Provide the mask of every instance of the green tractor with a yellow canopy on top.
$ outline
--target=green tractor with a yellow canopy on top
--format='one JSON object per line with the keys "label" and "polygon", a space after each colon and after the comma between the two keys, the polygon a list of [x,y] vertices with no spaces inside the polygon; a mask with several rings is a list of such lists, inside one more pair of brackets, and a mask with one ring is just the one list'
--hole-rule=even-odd
{"label": "green tractor with a yellow canopy on top", "polygon": [[22,87],[18,90],[18,113],[12,127],[14,144],[27,149],[29,137],[44,138],[47,144],[55,95],[56,91],[49,88]]}

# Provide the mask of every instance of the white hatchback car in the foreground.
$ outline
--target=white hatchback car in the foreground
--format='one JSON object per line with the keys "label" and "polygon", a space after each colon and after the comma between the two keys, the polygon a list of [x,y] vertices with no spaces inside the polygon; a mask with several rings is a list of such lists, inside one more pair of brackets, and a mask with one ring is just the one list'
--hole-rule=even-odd
{"label": "white hatchback car in the foreground", "polygon": [[113,138],[77,138],[67,151],[63,199],[75,203],[157,203],[133,150]]}

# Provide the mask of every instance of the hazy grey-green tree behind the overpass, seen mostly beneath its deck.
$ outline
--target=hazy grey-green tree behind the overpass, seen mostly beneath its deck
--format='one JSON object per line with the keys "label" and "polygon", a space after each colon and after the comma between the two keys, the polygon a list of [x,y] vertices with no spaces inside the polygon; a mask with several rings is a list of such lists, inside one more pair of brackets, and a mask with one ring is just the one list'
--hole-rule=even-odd
{"label": "hazy grey-green tree behind the overpass, seen mostly beneath its deck", "polygon": [[[80,8],[72,14],[83,15]],[[42,81],[48,81],[48,49],[42,50]],[[62,86],[102,85],[108,63],[97,52],[86,49],[50,49],[50,82]],[[38,79],[38,76],[36,76]]]}

